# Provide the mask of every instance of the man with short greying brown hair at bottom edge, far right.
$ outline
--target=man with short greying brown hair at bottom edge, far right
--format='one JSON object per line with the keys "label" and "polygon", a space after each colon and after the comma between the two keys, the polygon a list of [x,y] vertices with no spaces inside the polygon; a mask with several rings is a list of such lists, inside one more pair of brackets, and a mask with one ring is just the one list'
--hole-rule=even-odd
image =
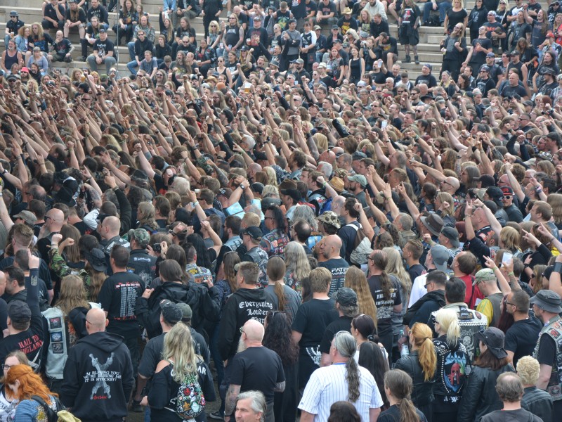
{"label": "man with short greying brown hair at bottom edge, far right", "polygon": [[496,392],[504,408],[482,416],[481,422],[525,421],[540,422],[541,418],[521,407],[523,383],[515,373],[504,372],[497,377]]}

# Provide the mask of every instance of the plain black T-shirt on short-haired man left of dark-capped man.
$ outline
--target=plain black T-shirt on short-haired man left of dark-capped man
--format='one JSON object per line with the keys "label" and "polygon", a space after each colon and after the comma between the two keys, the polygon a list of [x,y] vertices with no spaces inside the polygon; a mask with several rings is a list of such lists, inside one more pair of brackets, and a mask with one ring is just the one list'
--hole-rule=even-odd
{"label": "plain black T-shirt on short-haired man left of dark-capped man", "polygon": [[318,347],[326,327],[337,318],[336,302],[332,299],[304,302],[296,312],[292,327],[294,331],[302,333],[299,342],[301,352],[306,347]]}

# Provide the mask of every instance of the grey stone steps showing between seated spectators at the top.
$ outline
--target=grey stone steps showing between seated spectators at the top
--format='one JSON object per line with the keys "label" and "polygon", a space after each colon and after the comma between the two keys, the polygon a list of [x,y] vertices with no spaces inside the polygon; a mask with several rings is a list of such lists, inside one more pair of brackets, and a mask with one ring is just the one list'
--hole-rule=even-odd
{"label": "grey stone steps showing between seated spectators at the top", "polygon": [[[16,0],[3,0],[0,4],[0,31],[4,34],[4,29],[6,27],[6,21],[9,20],[9,13],[12,10],[18,11],[20,15],[20,19],[23,20],[26,25],[30,25],[34,22],[41,22],[42,20],[42,13],[41,13],[41,6],[37,4],[37,7],[21,7],[18,6],[18,1]],[[547,10],[547,1],[546,0],[539,0],[542,8]],[[107,1],[109,4],[109,1]],[[421,12],[423,13],[423,3],[418,3]],[[148,12],[150,15],[150,22],[152,26],[155,27],[156,32],[158,33],[159,24],[158,24],[158,13],[159,7],[162,6],[161,0],[143,0],[143,8],[145,12]],[[470,10],[474,6],[474,0],[469,0],[468,3],[465,3],[465,7],[470,13]],[[389,26],[391,36],[398,37],[398,27],[396,22],[388,14],[389,17]],[[223,11],[221,15],[221,20],[226,20],[226,9]],[[109,17],[110,27],[112,27],[115,23],[117,23],[117,13],[110,12]],[[204,34],[203,28],[203,19],[202,18],[195,18],[191,20],[191,25],[195,29],[197,34],[197,39],[200,39]],[[329,31],[326,31],[326,34]],[[54,38],[54,30],[51,30],[51,36]],[[466,32],[466,43],[469,44],[469,37],[468,31]],[[115,40],[115,33],[111,30],[108,31],[108,36],[110,39]],[[77,31],[73,31],[70,33],[69,37],[70,41],[76,46],[74,52],[72,53],[73,59],[76,60],[80,56],[80,48],[79,48],[79,35]],[[431,63],[433,65],[434,74],[438,74],[438,70],[440,68],[440,64],[443,61],[443,54],[440,52],[440,41],[444,39],[443,36],[443,27],[420,27],[419,28],[419,45],[418,45],[418,55],[419,60],[421,63]],[[4,37],[1,37],[0,44],[4,44]],[[2,50],[4,47],[2,47]],[[91,51],[91,50],[90,50]],[[129,52],[126,49],[126,46],[119,46],[117,47],[117,57],[118,61],[118,69],[121,75],[127,75],[129,71],[126,69],[126,63],[129,62]],[[404,49],[400,44],[398,45],[398,53],[399,53],[399,60],[404,58],[405,53]],[[413,60],[413,56],[412,56]],[[401,60],[400,60],[401,61]],[[399,62],[400,63],[400,62]],[[67,70],[71,70],[72,68],[83,68],[86,67],[85,62],[73,61],[72,63],[54,63],[54,68],[63,70],[66,72]],[[421,64],[416,65],[414,63],[400,63],[400,66],[407,70],[410,73],[410,79],[415,79],[421,73]]]}

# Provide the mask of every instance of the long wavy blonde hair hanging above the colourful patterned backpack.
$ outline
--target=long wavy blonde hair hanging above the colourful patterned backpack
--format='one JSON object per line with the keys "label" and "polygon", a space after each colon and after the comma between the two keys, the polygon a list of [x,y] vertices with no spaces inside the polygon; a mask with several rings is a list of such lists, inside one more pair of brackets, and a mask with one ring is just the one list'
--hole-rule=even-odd
{"label": "long wavy blonde hair hanging above the colourful patterned backpack", "polygon": [[178,322],[164,337],[162,358],[174,362],[172,378],[176,383],[182,383],[192,373],[197,374],[191,331],[183,322]]}

